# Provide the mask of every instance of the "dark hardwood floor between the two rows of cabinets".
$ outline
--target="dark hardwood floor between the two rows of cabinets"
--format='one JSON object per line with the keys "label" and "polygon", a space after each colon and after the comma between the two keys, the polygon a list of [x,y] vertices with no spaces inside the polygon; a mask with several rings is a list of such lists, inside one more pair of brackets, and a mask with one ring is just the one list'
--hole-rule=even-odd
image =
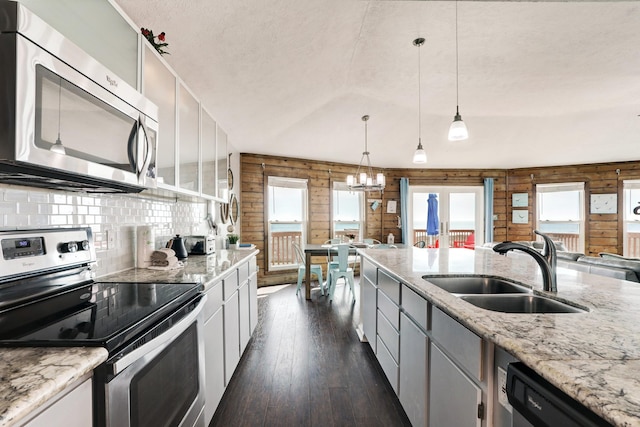
{"label": "dark hardwood floor between the two rows of cabinets", "polygon": [[319,290],[312,297],[295,285],[259,296],[258,326],[210,427],[411,425],[358,340],[348,287],[331,304]]}

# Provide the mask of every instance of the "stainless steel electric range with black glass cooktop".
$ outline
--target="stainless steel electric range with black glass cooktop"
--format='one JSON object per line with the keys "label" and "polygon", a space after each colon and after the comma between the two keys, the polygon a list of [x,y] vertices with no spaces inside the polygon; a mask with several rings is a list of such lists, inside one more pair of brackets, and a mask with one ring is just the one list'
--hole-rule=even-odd
{"label": "stainless steel electric range with black glass cooktop", "polygon": [[0,231],[0,346],[101,346],[96,426],[200,426],[196,283],[95,280],[90,228]]}

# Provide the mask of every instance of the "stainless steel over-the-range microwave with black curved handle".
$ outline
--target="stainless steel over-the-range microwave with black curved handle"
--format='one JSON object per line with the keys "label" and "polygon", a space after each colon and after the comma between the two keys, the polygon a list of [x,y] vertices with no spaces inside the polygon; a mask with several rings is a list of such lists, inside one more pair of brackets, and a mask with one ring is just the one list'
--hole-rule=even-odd
{"label": "stainless steel over-the-range microwave with black curved handle", "polygon": [[0,183],[156,186],[158,108],[20,3],[0,0]]}

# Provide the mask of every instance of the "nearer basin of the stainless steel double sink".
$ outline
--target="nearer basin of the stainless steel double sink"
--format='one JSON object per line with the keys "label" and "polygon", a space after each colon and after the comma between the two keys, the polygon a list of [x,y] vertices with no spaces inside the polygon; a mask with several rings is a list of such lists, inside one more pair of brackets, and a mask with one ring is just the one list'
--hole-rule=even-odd
{"label": "nearer basin of the stainless steel double sink", "polygon": [[460,299],[486,310],[503,313],[585,313],[578,307],[539,295],[460,295]]}

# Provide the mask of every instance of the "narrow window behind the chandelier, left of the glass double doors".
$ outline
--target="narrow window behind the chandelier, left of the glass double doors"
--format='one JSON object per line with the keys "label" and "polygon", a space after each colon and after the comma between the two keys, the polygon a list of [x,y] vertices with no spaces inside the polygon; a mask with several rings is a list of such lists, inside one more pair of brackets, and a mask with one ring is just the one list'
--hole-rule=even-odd
{"label": "narrow window behind the chandelier, left of the glass double doors", "polygon": [[342,239],[353,235],[355,241],[362,241],[364,235],[364,193],[349,191],[347,184],[333,183],[333,211],[331,235]]}

